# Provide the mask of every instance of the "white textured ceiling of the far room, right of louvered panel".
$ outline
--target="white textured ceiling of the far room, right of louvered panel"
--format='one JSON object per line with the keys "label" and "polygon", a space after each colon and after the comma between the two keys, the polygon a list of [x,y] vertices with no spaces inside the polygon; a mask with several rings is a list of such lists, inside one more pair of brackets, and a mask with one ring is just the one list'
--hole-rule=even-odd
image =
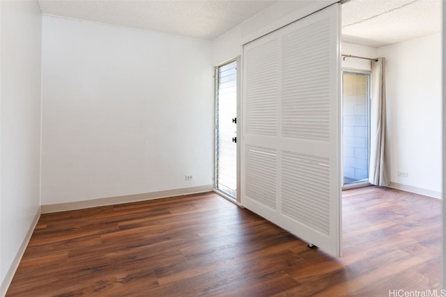
{"label": "white textured ceiling of the far room, right of louvered panel", "polygon": [[342,6],[346,42],[381,47],[440,33],[441,0],[351,0]]}

